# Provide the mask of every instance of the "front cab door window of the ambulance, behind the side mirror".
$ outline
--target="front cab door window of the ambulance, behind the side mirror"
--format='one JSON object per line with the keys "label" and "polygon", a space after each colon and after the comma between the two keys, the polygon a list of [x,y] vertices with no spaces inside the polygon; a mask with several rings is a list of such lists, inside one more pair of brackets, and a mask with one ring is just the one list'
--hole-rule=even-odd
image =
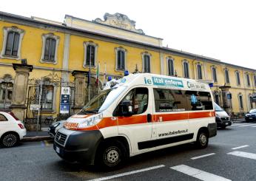
{"label": "front cab door window of the ambulance, behind the side mirror", "polygon": [[147,88],[135,88],[132,89],[116,107],[113,115],[121,115],[120,105],[124,102],[130,102],[133,107],[133,115],[139,115],[146,112],[149,100],[149,90]]}

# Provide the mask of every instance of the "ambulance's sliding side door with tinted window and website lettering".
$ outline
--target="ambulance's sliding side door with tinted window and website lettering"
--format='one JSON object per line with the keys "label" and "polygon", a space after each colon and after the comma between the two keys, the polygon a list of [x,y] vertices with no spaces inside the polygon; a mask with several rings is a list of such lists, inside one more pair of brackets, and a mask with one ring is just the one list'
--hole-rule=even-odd
{"label": "ambulance's sliding side door with tinted window and website lettering", "polygon": [[154,93],[154,146],[166,146],[191,140],[185,92],[178,89],[153,89]]}

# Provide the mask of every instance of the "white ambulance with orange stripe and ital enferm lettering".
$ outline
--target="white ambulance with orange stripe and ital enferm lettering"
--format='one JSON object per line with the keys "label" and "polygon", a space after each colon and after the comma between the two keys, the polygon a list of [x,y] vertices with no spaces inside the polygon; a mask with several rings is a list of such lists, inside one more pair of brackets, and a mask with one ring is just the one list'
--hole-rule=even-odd
{"label": "white ambulance with orange stripe and ital enferm lettering", "polygon": [[53,148],[64,160],[115,168],[128,157],[184,143],[206,148],[217,134],[208,83],[129,74],[69,117]]}

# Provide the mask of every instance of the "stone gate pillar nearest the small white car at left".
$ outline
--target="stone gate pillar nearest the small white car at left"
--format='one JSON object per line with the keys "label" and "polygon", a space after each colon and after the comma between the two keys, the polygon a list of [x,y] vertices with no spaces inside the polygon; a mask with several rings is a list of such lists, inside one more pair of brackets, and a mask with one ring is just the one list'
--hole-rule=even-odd
{"label": "stone gate pillar nearest the small white car at left", "polygon": [[27,64],[13,64],[13,69],[16,72],[13,85],[13,98],[10,108],[19,120],[23,121],[25,118],[26,98],[27,98],[27,84],[30,72],[33,70],[32,65]]}

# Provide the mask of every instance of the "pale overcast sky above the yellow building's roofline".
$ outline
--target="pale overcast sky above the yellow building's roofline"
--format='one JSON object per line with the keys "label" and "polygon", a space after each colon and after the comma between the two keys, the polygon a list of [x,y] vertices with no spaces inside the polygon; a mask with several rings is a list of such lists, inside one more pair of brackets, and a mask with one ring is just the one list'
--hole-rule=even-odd
{"label": "pale overcast sky above the yellow building's roofline", "polygon": [[1,1],[0,10],[64,21],[123,13],[164,46],[256,69],[256,1],[247,0],[44,0]]}

